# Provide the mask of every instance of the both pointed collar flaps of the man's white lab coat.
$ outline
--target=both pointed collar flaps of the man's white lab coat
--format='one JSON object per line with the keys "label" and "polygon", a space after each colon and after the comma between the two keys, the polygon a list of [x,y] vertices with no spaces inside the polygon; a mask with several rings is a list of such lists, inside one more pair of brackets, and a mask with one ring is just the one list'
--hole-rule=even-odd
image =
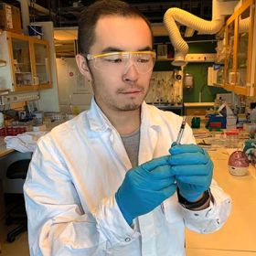
{"label": "both pointed collar flaps of the man's white lab coat", "polygon": [[[151,110],[150,110],[151,109]],[[156,128],[160,127],[161,120],[158,115],[158,110],[154,106],[146,104],[144,101],[142,104],[141,119],[142,125],[147,127]],[[112,123],[108,120],[105,114],[101,111],[101,108],[97,105],[94,98],[91,99],[91,108],[88,111],[88,121],[91,131],[105,132],[108,129],[114,129]]]}

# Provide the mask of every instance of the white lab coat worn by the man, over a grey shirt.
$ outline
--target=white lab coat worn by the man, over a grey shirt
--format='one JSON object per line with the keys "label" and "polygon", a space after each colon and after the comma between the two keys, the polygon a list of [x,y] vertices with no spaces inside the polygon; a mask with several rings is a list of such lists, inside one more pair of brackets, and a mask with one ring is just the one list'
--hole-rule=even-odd
{"label": "white lab coat worn by the man, over a grey shirt", "polygon": [[[182,121],[145,102],[141,116],[139,164],[167,155]],[[188,125],[181,143],[195,143]],[[182,208],[175,194],[130,227],[114,194],[131,167],[119,133],[93,100],[88,112],[39,139],[24,186],[31,255],[185,255],[185,227],[211,232],[228,218],[230,198],[213,181],[209,208]]]}

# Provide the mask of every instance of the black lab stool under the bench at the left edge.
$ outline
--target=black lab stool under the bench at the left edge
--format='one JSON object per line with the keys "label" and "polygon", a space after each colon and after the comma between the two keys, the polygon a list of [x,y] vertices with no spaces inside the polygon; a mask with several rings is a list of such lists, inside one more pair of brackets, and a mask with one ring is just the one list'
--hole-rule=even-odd
{"label": "black lab stool under the bench at the left edge", "polygon": [[[27,169],[30,159],[17,160],[13,164],[7,167],[6,177],[8,179],[26,179]],[[5,219],[6,225],[16,223],[18,226],[16,229],[11,230],[7,234],[7,241],[13,242],[16,240],[16,236],[27,230],[27,214],[25,208],[25,202],[16,203],[16,205],[10,208],[6,213]]]}

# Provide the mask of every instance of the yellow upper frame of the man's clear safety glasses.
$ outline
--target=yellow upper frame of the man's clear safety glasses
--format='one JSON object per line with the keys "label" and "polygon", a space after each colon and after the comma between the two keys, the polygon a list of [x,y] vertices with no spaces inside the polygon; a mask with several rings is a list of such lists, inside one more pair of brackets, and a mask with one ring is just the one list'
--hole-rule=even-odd
{"label": "yellow upper frame of the man's clear safety glasses", "polygon": [[[108,56],[112,56],[115,54],[120,54],[120,55],[125,55],[125,54],[129,54],[129,56],[131,56],[131,54],[150,54],[152,55],[153,59],[154,59],[154,64],[152,66],[152,69],[155,66],[155,59],[156,59],[156,53],[153,50],[142,50],[142,51],[112,51],[112,52],[106,52],[106,53],[101,53],[101,54],[91,54],[91,53],[87,53],[87,54],[82,54],[82,56],[87,59],[88,61],[93,60],[93,59],[99,59],[102,57],[108,57]],[[94,66],[95,67],[95,66]],[[96,68],[96,67],[95,67]],[[97,68],[96,68],[97,69]],[[149,69],[147,72],[145,72],[144,74],[148,73],[150,70]]]}

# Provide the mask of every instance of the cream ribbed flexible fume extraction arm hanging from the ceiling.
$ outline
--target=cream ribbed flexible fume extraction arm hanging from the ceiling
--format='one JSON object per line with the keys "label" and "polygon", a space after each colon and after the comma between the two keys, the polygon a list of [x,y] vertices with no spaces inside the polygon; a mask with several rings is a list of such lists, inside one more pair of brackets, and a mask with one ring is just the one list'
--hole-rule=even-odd
{"label": "cream ribbed flexible fume extraction arm hanging from the ceiling", "polygon": [[181,37],[176,22],[193,28],[200,34],[216,34],[223,27],[225,16],[233,13],[234,5],[237,3],[238,1],[224,2],[222,0],[213,0],[211,21],[202,19],[176,7],[169,8],[165,12],[164,24],[172,45],[175,48],[175,59],[172,64],[174,66],[186,65],[186,55],[188,52],[187,42]]}

